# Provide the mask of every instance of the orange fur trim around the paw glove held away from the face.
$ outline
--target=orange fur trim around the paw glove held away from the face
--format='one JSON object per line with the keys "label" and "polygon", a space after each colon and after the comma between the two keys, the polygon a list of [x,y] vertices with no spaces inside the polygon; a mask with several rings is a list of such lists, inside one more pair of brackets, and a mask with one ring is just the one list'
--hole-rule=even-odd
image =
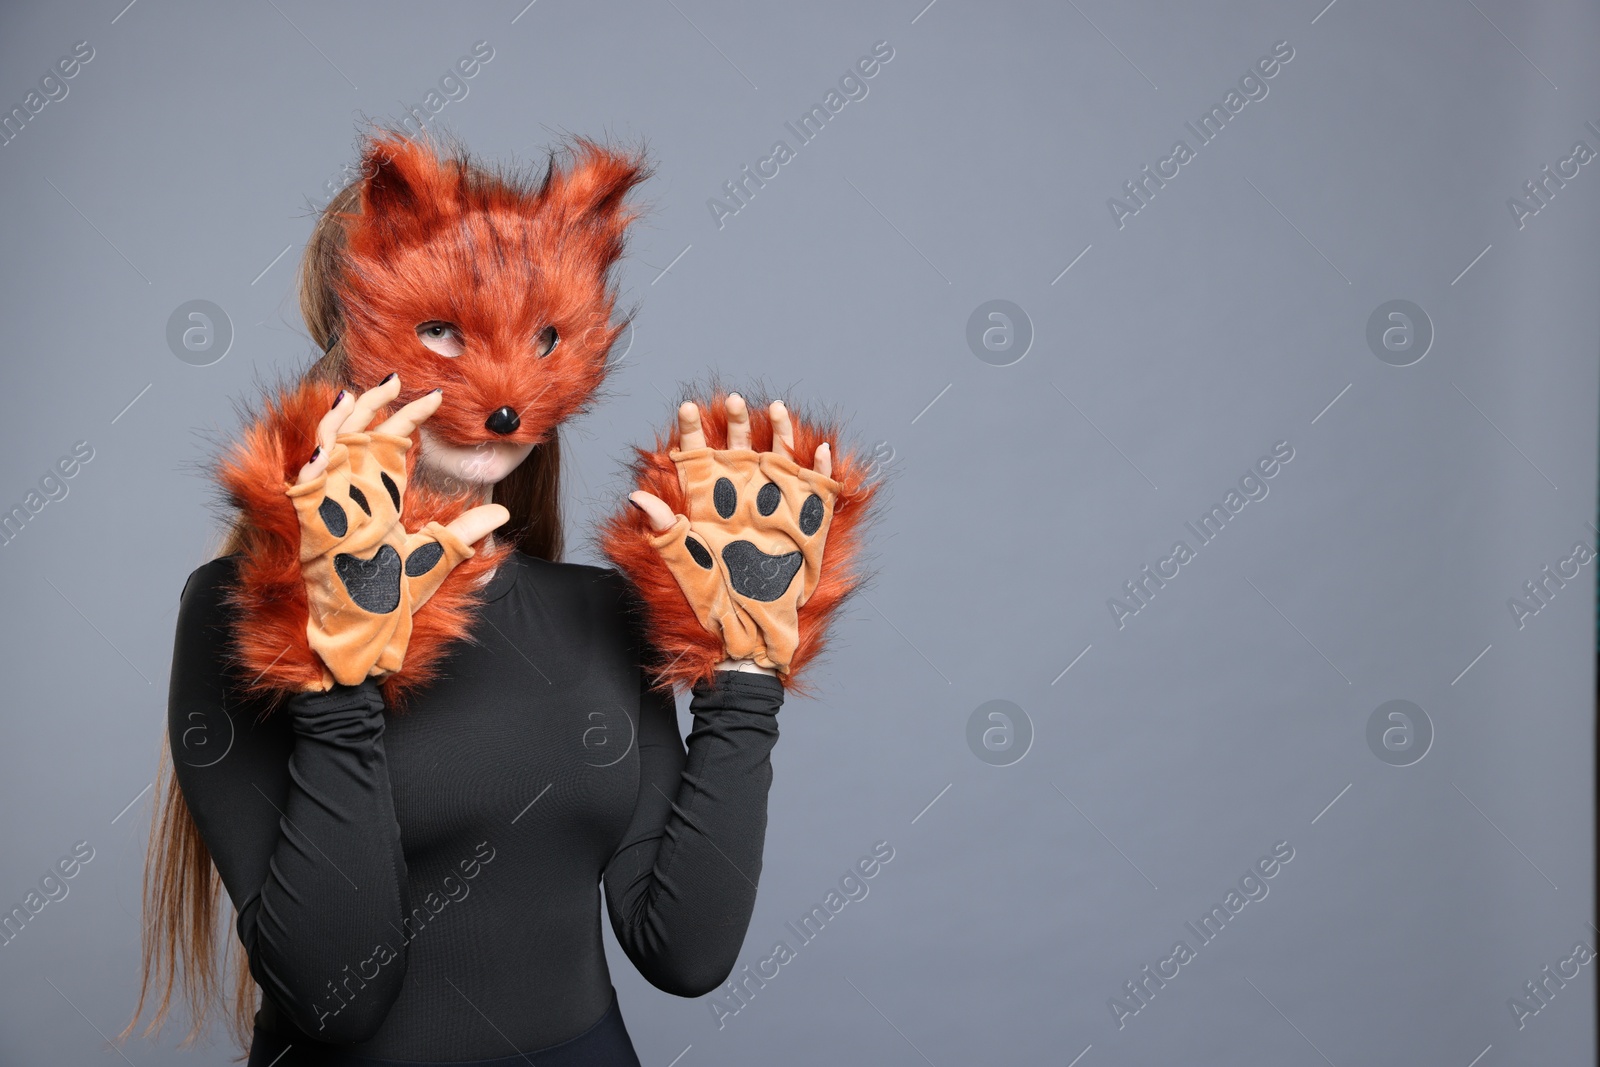
{"label": "orange fur trim around the paw glove held away from the face", "polygon": [[[701,426],[710,448],[728,446],[726,392],[715,390],[709,398],[693,398],[701,410]],[[773,422],[766,403],[749,398],[750,448],[771,451]],[[800,643],[784,675],[790,693],[805,694],[810,686],[802,680],[808,662],[816,659],[827,643],[827,627],[853,593],[864,574],[861,553],[864,523],[880,482],[870,480],[870,469],[854,450],[842,450],[838,427],[806,418],[789,405],[795,434],[795,459],[811,466],[816,446],[829,442],[835,451],[832,478],[838,482],[838,498],[834,501],[834,520],[827,528],[827,547],[822,552],[822,576],[811,598],[798,611]],[[686,515],[688,501],[678,483],[677,466],[669,453],[678,448],[677,418],[667,437],[656,435],[653,450],[634,448],[630,474],[634,488],[659,496],[674,514]],[[645,609],[645,627],[654,645],[659,662],[654,664],[659,688],[688,688],[715,678],[717,664],[723,659],[722,638],[707,632],[661,553],[650,545],[651,528],[645,514],[626,504],[603,520],[600,526],[600,550],[622,571],[638,590]]]}

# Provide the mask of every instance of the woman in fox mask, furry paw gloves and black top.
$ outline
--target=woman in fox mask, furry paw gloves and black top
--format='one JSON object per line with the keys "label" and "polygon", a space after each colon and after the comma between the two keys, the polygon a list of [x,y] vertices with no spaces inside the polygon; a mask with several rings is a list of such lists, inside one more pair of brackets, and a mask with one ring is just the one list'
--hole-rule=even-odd
{"label": "woman in fox mask, furry paw gloves and black top", "polygon": [[182,592],[147,1033],[179,960],[203,1027],[221,880],[251,1067],[637,1064],[595,883],[651,984],[726,979],[776,713],[872,488],[782,403],[686,402],[605,523],[616,568],[560,563],[555,427],[621,330],[643,158],[578,141],[530,182],[392,134],[363,162],[301,267],[325,357],[221,464],[238,515]]}

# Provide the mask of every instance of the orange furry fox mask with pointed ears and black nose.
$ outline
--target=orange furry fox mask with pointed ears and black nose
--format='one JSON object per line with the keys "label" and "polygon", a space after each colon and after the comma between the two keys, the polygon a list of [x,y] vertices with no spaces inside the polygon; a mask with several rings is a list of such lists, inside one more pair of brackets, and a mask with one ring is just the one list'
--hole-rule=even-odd
{"label": "orange furry fox mask with pointed ears and black nose", "polygon": [[582,138],[571,157],[526,182],[400,134],[368,142],[334,286],[350,386],[397,371],[398,403],[442,387],[427,429],[461,446],[538,445],[584,410],[622,331],[622,198],[650,168]]}

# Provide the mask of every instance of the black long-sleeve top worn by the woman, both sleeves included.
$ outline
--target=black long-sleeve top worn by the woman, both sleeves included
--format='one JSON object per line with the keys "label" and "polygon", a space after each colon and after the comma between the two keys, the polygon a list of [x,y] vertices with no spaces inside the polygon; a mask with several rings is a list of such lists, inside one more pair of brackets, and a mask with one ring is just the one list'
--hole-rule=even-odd
{"label": "black long-sleeve top worn by the woman, both sleeves included", "polygon": [[270,715],[229,665],[232,557],[190,574],[170,739],[264,990],[256,1027],[387,1059],[565,1041],[610,1006],[600,893],[629,960],[698,997],[755,904],[782,685],[718,672],[685,752],[610,568],[523,553],[405,710],[378,686]]}

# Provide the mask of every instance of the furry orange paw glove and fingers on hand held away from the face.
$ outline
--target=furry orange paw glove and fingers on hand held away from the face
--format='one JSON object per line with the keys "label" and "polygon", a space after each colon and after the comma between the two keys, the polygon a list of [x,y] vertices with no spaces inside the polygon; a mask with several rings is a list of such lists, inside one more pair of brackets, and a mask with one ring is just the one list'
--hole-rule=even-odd
{"label": "furry orange paw glove and fingers on hand held away from the face", "polygon": [[877,464],[840,427],[712,387],[685,398],[598,545],[627,579],[653,688],[715,681],[728,659],[811,689],[810,664],[858,590]]}

